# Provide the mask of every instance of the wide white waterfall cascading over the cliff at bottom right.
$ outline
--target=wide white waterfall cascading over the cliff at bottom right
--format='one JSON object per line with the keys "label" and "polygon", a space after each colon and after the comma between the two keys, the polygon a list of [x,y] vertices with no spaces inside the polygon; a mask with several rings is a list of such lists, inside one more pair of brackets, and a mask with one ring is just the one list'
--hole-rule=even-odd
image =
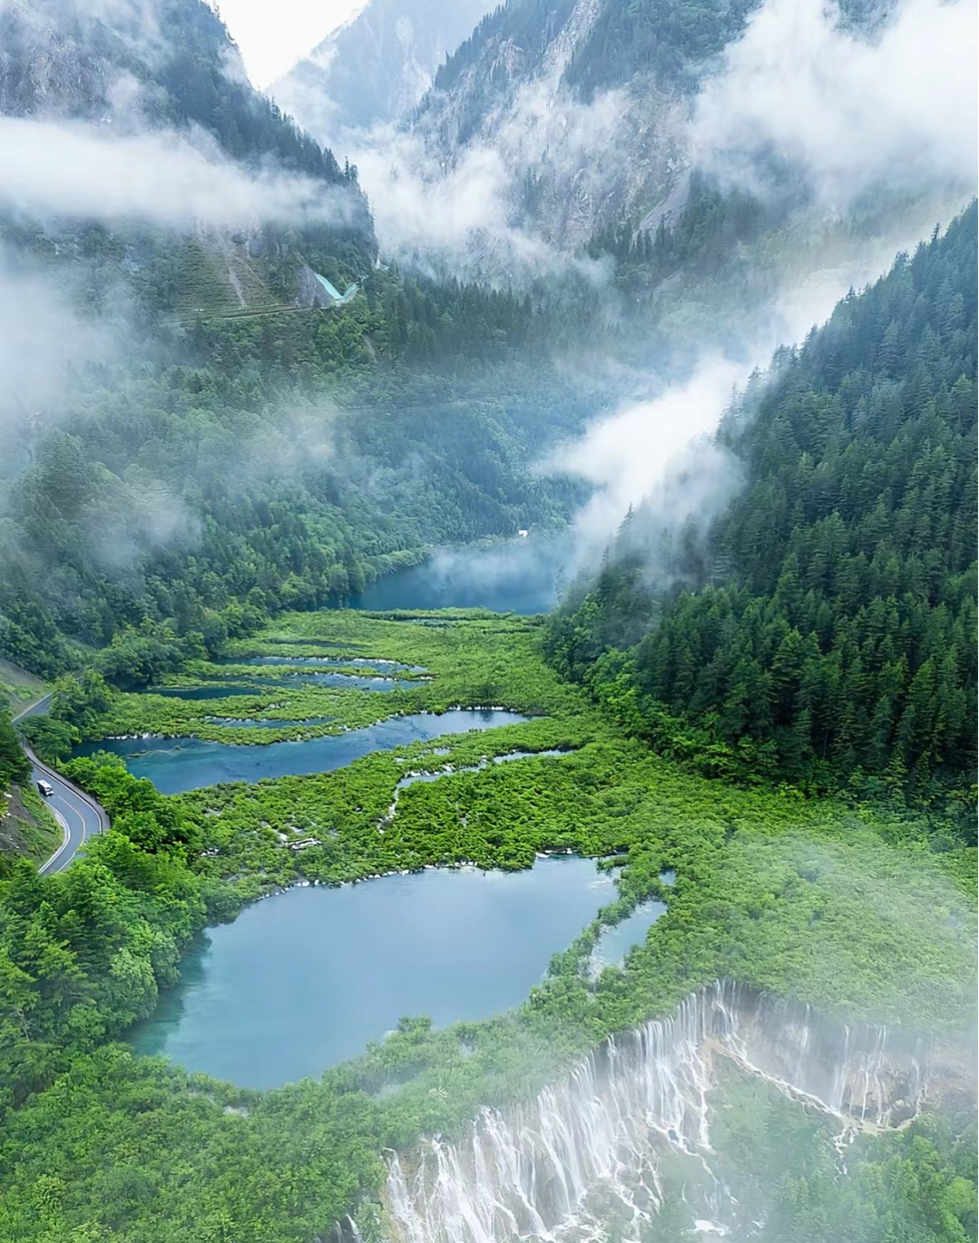
{"label": "wide white waterfall cascading over the cliff at bottom right", "polygon": [[605,1237],[600,1221],[650,1219],[661,1168],[696,1163],[687,1197],[704,1233],[726,1233],[731,1199],[712,1170],[708,1093],[717,1057],[844,1120],[878,1127],[917,1112],[926,1049],[886,1028],[816,1018],[733,982],[691,994],[662,1022],[605,1040],[530,1104],[486,1109],[456,1144],[391,1155],[386,1207],[399,1243]]}

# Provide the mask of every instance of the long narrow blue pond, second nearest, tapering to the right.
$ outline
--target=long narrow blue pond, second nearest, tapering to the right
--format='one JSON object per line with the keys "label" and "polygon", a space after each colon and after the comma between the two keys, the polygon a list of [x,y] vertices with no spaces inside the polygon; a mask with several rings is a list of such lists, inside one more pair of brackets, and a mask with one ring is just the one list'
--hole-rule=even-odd
{"label": "long narrow blue pond, second nearest, tapering to the right", "polygon": [[427,742],[444,733],[493,730],[527,720],[517,712],[497,709],[460,709],[441,716],[429,712],[396,716],[364,730],[348,730],[304,742],[270,742],[248,747],[206,742],[204,738],[107,738],[78,747],[75,755],[111,751],[125,759],[125,767],[134,777],[149,777],[160,793],[181,794],[221,782],[257,782],[266,777],[332,772],[371,751],[390,751],[409,742]]}

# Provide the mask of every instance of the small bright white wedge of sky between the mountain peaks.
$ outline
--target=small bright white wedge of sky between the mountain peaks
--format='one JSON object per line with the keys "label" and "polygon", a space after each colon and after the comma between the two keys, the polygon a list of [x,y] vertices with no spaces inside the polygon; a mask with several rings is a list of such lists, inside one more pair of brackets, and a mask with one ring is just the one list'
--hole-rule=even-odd
{"label": "small bright white wedge of sky between the mountain peaks", "polygon": [[211,0],[211,4],[239,45],[248,77],[263,89],[363,9],[365,0]]}

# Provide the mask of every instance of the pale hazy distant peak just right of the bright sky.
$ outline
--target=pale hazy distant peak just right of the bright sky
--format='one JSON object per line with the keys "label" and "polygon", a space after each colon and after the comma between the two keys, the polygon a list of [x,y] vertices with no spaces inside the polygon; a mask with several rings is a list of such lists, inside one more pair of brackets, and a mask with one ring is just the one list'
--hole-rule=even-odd
{"label": "pale hazy distant peak just right of the bright sky", "polygon": [[317,134],[398,121],[487,7],[488,0],[370,0],[270,93]]}

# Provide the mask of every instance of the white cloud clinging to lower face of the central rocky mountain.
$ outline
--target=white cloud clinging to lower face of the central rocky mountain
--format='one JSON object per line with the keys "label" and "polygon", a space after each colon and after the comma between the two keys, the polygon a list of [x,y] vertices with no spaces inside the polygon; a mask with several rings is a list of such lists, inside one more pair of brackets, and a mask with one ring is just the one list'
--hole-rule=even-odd
{"label": "white cloud clinging to lower face of the central rocky mountain", "polygon": [[[559,82],[555,67],[524,83],[465,144],[440,137],[437,117],[345,135],[383,250],[499,283],[570,268],[603,280],[575,251],[629,175],[629,101],[609,91],[583,104]],[[529,177],[539,203],[526,213]]]}

